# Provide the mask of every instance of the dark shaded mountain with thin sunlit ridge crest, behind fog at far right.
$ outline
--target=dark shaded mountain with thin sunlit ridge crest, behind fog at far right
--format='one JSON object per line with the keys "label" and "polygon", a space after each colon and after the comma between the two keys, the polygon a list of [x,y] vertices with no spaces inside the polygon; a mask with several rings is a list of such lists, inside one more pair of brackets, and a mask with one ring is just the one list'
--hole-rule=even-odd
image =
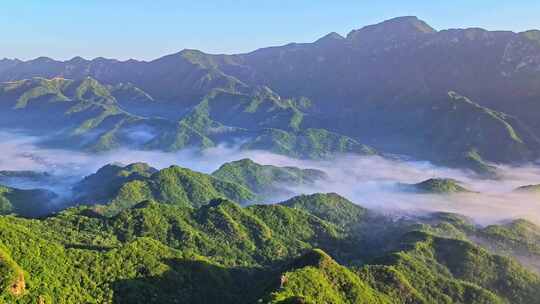
{"label": "dark shaded mountain with thin sunlit ridge crest, behind fog at far right", "polygon": [[[539,141],[515,117],[482,107],[455,92],[448,96],[448,100],[435,103],[433,110],[423,114],[430,120],[419,126],[423,140],[432,145],[433,155],[453,155],[456,162],[464,158],[475,161],[477,165],[471,169],[481,173],[490,170],[484,168],[483,159],[508,163],[535,157]],[[494,145],[501,149],[493,149]]]}

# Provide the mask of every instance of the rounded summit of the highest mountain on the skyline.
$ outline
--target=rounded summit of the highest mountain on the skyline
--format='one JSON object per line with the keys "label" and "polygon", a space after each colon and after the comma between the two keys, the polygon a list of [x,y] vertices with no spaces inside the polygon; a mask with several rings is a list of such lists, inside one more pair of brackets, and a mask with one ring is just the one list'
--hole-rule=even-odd
{"label": "rounded summit of the highest mountain on the skyline", "polygon": [[397,40],[415,37],[418,35],[435,33],[425,21],[414,16],[397,17],[378,24],[368,25],[354,30],[347,35],[347,39],[360,40]]}

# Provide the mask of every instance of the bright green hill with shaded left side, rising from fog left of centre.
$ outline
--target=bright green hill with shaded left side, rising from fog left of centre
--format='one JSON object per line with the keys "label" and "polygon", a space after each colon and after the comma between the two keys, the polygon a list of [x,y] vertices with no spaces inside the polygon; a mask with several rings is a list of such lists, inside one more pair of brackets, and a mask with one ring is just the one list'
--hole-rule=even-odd
{"label": "bright green hill with shaded left side, rising from fog left of centre", "polygon": [[144,163],[107,165],[74,186],[76,203],[98,205],[106,215],[146,200],[199,207],[211,199],[247,203],[256,198],[247,188],[178,166],[156,170]]}

